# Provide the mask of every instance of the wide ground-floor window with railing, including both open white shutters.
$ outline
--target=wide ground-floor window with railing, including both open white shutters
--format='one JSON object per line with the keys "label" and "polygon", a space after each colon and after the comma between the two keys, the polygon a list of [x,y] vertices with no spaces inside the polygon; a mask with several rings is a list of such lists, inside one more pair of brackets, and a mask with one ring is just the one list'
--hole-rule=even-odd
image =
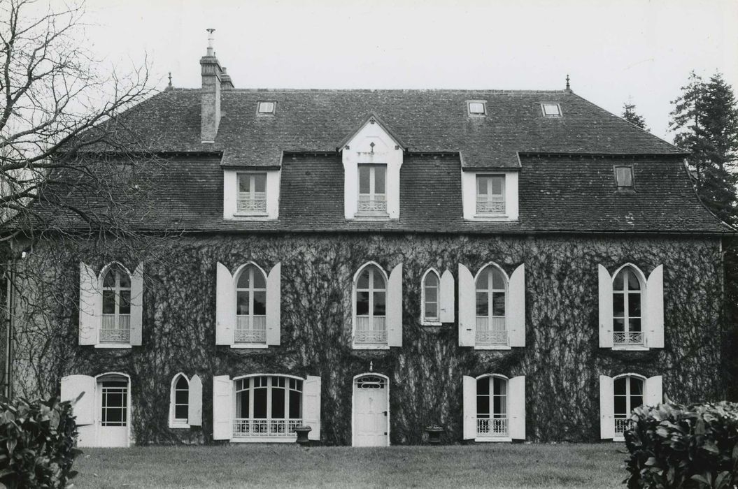
{"label": "wide ground-floor window with railing, including both open white shutters", "polygon": [[305,424],[320,440],[320,384],[317,376],[213,377],[213,439],[294,443]]}

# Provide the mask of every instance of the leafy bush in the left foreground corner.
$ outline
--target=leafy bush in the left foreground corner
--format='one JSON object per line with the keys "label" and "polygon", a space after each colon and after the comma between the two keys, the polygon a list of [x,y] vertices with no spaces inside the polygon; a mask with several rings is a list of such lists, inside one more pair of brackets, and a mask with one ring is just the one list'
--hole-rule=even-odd
{"label": "leafy bush in the left foreground corner", "polygon": [[67,487],[81,453],[76,437],[68,401],[0,400],[0,482],[8,488]]}

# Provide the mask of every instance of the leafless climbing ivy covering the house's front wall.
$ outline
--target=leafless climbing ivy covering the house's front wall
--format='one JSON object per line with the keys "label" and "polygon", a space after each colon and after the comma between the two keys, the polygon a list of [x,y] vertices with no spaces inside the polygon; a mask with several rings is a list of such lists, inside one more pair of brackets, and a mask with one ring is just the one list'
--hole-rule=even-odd
{"label": "leafless climbing ivy covering the house's front wall", "polygon": [[[129,350],[77,346],[78,253],[38,244],[20,264],[43,267],[49,281],[27,284],[16,317],[16,393],[49,395],[73,373],[128,373],[137,443],[207,443],[214,375],[321,376],[322,438],[337,445],[351,444],[352,379],[370,363],[390,378],[391,443],[421,443],[431,423],[446,428],[446,443],[461,441],[464,375],[525,375],[527,437],[542,442],[599,439],[600,374],[663,375],[664,393],[683,403],[725,395],[717,239],[295,233],[183,237],[155,257],[95,247],[86,259],[95,270],[112,259],[131,270],[145,261],[143,344]],[[249,260],[265,270],[282,264],[281,345],[215,346],[215,264],[235,270]],[[387,271],[403,264],[402,348],[351,348],[352,280],[370,260]],[[475,351],[458,346],[457,324],[421,326],[428,268],[456,277],[459,263],[476,272],[490,261],[508,274],[525,263],[525,348]],[[663,349],[599,348],[597,264],[613,272],[627,262],[646,274],[664,265]],[[178,372],[203,378],[201,429],[168,428]]]}

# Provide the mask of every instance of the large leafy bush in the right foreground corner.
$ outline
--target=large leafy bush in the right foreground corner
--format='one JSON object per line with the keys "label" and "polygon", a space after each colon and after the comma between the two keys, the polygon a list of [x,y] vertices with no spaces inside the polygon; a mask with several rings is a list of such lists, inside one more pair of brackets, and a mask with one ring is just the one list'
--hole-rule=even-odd
{"label": "large leafy bush in the right foreground corner", "polygon": [[738,404],[633,410],[625,432],[628,488],[728,489],[738,484]]}

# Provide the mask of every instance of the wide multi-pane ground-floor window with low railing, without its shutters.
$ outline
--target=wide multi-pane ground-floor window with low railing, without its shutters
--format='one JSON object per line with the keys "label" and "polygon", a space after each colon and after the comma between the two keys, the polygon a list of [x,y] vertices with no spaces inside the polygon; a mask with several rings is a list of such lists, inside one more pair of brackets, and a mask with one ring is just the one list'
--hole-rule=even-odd
{"label": "wide multi-pane ground-floor window with low railing, without its shutters", "polygon": [[235,380],[234,438],[294,437],[303,423],[303,381],[285,376]]}

